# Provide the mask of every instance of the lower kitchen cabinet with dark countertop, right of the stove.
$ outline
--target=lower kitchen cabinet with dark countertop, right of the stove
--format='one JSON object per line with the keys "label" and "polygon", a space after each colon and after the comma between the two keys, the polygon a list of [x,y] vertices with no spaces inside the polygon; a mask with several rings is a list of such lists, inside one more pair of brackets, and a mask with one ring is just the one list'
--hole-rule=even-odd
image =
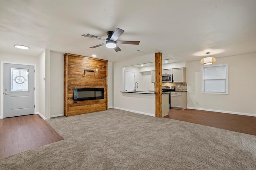
{"label": "lower kitchen cabinet with dark countertop, right of the stove", "polygon": [[171,107],[172,109],[186,109],[187,92],[171,92]]}

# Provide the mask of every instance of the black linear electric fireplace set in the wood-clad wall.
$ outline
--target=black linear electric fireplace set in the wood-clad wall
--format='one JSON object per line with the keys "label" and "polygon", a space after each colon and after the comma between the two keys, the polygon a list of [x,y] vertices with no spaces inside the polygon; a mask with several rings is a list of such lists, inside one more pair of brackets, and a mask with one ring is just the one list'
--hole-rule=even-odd
{"label": "black linear electric fireplace set in the wood-clad wall", "polygon": [[104,99],[104,88],[74,88],[74,101]]}

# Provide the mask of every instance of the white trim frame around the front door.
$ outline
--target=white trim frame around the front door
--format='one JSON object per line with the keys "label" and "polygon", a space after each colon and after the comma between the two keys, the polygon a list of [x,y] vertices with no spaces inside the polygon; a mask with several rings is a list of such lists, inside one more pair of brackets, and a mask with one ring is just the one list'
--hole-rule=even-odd
{"label": "white trim frame around the front door", "polygon": [[1,61],[1,113],[0,119],[4,119],[4,64],[20,64],[20,65],[28,65],[34,66],[35,74],[34,74],[34,84],[35,84],[35,93],[34,93],[34,113],[36,114],[36,64],[29,64],[29,63],[15,63],[15,62],[8,62],[8,61]]}

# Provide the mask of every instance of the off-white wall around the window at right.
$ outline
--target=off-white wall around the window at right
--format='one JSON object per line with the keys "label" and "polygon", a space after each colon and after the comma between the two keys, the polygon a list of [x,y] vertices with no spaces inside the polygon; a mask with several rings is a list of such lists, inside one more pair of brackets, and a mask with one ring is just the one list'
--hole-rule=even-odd
{"label": "off-white wall around the window at right", "polygon": [[256,115],[256,53],[217,58],[214,64],[228,64],[228,94],[202,94],[202,64],[187,62],[187,106]]}

